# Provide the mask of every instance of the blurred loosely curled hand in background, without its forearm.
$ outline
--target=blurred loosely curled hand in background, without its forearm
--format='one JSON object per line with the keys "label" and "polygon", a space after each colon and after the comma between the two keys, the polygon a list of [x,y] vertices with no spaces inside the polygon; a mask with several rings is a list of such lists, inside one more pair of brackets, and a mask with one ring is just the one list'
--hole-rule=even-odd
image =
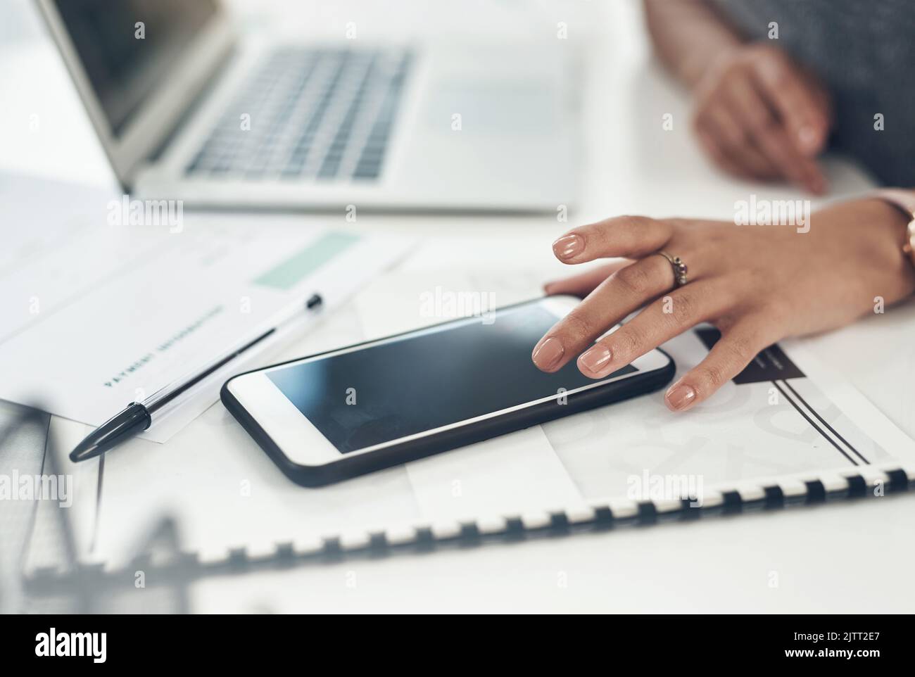
{"label": "blurred loosely curled hand in background, without its forearm", "polygon": [[832,124],[829,94],[780,49],[726,49],[695,85],[694,129],[718,167],[740,177],[783,178],[813,193],[826,182],[813,158]]}

